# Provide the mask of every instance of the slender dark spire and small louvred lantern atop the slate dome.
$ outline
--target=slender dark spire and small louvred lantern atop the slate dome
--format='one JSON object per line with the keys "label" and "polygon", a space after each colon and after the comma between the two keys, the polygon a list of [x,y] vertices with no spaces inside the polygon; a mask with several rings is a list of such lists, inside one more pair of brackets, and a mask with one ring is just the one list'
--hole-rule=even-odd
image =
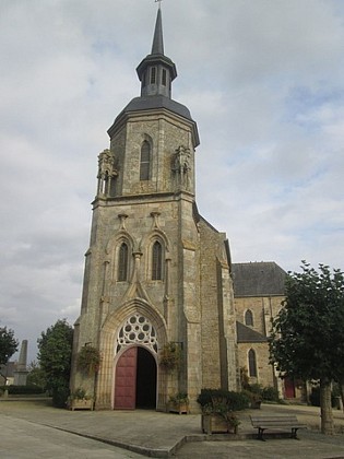
{"label": "slender dark spire and small louvred lantern atop the slate dome", "polygon": [[141,81],[141,96],[171,97],[171,82],[177,76],[175,63],[164,55],[162,10],[157,10],[152,51],[137,68]]}

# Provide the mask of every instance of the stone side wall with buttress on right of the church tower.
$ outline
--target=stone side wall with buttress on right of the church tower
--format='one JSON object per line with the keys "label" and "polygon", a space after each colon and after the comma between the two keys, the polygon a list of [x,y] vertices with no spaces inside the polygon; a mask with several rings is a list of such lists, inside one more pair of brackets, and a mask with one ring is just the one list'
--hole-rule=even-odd
{"label": "stone side wall with buttress on right of the church tower", "polygon": [[200,229],[202,387],[236,388],[235,315],[225,235],[203,219]]}

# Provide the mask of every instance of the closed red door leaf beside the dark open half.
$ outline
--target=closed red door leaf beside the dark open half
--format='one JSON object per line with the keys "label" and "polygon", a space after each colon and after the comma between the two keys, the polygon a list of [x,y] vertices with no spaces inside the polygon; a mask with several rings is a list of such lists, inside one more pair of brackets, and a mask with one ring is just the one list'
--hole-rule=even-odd
{"label": "closed red door leaf beside the dark open half", "polygon": [[118,360],[115,381],[115,409],[134,410],[137,403],[138,348],[130,348]]}

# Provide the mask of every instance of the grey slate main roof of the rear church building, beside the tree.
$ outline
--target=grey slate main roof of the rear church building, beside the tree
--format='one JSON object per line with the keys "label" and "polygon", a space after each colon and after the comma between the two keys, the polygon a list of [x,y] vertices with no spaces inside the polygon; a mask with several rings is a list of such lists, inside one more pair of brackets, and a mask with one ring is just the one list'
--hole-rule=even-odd
{"label": "grey slate main roof of the rear church building, beside the tree", "polygon": [[285,294],[287,273],[274,261],[233,263],[234,296]]}

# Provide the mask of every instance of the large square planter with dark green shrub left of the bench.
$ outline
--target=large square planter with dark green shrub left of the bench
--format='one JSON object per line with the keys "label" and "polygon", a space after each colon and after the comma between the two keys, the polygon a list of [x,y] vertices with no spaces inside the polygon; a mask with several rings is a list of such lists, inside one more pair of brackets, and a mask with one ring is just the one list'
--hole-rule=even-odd
{"label": "large square planter with dark green shrub left of the bench", "polygon": [[201,405],[205,434],[237,434],[240,421],[236,411],[247,408],[245,396],[221,389],[202,389],[197,401]]}

